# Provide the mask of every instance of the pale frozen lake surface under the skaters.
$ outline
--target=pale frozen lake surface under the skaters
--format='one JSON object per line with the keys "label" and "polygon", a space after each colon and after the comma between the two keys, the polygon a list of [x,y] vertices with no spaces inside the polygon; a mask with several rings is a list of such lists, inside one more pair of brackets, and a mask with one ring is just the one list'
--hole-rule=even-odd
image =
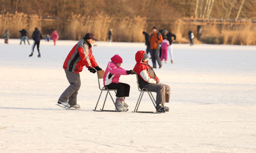
{"label": "pale frozen lake surface under the skaters", "polygon": [[[56,106],[69,85],[62,65],[78,41],[54,46],[42,40],[41,58],[36,48],[28,57],[31,45],[19,42],[0,39],[1,153],[256,152],[256,46],[173,44],[174,63],[168,59],[155,69],[171,88],[170,112],[140,114],[132,112],[140,94],[136,75],[120,77],[131,86],[128,112],[92,111],[100,90],[86,67],[81,110]],[[115,54],[122,68],[133,69],[135,53],[146,49],[144,43],[95,44],[93,55],[104,70]],[[109,96],[105,108],[114,110]],[[154,111],[148,95],[139,110]]]}

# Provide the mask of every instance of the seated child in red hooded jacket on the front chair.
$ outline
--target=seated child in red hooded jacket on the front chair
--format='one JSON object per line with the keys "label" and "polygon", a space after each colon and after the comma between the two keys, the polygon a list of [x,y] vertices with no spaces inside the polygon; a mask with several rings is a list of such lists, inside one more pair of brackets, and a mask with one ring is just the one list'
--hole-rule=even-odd
{"label": "seated child in red hooded jacket on the front chair", "polygon": [[135,55],[136,65],[133,70],[138,74],[139,87],[156,92],[156,108],[159,112],[168,112],[169,108],[164,104],[170,100],[170,86],[159,83],[159,78],[148,64],[148,57],[146,51],[138,51]]}

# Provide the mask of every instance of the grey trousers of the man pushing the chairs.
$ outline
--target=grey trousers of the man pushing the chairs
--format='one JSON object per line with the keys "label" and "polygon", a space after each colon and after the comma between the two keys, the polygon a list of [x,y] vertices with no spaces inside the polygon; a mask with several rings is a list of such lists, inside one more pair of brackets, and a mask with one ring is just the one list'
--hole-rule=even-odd
{"label": "grey trousers of the man pushing the chairs", "polygon": [[78,90],[81,86],[81,80],[79,73],[73,73],[70,71],[65,70],[66,77],[70,85],[66,90],[60,95],[58,101],[60,102],[68,102],[70,106],[76,105],[76,96],[78,94]]}

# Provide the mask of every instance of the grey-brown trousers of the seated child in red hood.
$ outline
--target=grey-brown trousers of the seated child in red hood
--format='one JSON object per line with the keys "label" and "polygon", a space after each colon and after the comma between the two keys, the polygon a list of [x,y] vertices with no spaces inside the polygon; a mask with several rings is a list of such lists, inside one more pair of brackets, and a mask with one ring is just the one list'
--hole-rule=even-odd
{"label": "grey-brown trousers of the seated child in red hood", "polygon": [[156,92],[156,104],[164,104],[170,101],[170,86],[162,83],[149,83],[145,87],[148,91]]}

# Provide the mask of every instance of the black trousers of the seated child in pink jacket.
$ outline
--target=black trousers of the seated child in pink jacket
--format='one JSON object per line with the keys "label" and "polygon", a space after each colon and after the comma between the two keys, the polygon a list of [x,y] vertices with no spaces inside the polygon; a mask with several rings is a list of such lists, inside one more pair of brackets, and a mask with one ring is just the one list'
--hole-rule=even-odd
{"label": "black trousers of the seated child in pink jacket", "polygon": [[117,89],[116,97],[129,97],[130,85],[126,83],[110,83],[106,85],[108,89]]}

